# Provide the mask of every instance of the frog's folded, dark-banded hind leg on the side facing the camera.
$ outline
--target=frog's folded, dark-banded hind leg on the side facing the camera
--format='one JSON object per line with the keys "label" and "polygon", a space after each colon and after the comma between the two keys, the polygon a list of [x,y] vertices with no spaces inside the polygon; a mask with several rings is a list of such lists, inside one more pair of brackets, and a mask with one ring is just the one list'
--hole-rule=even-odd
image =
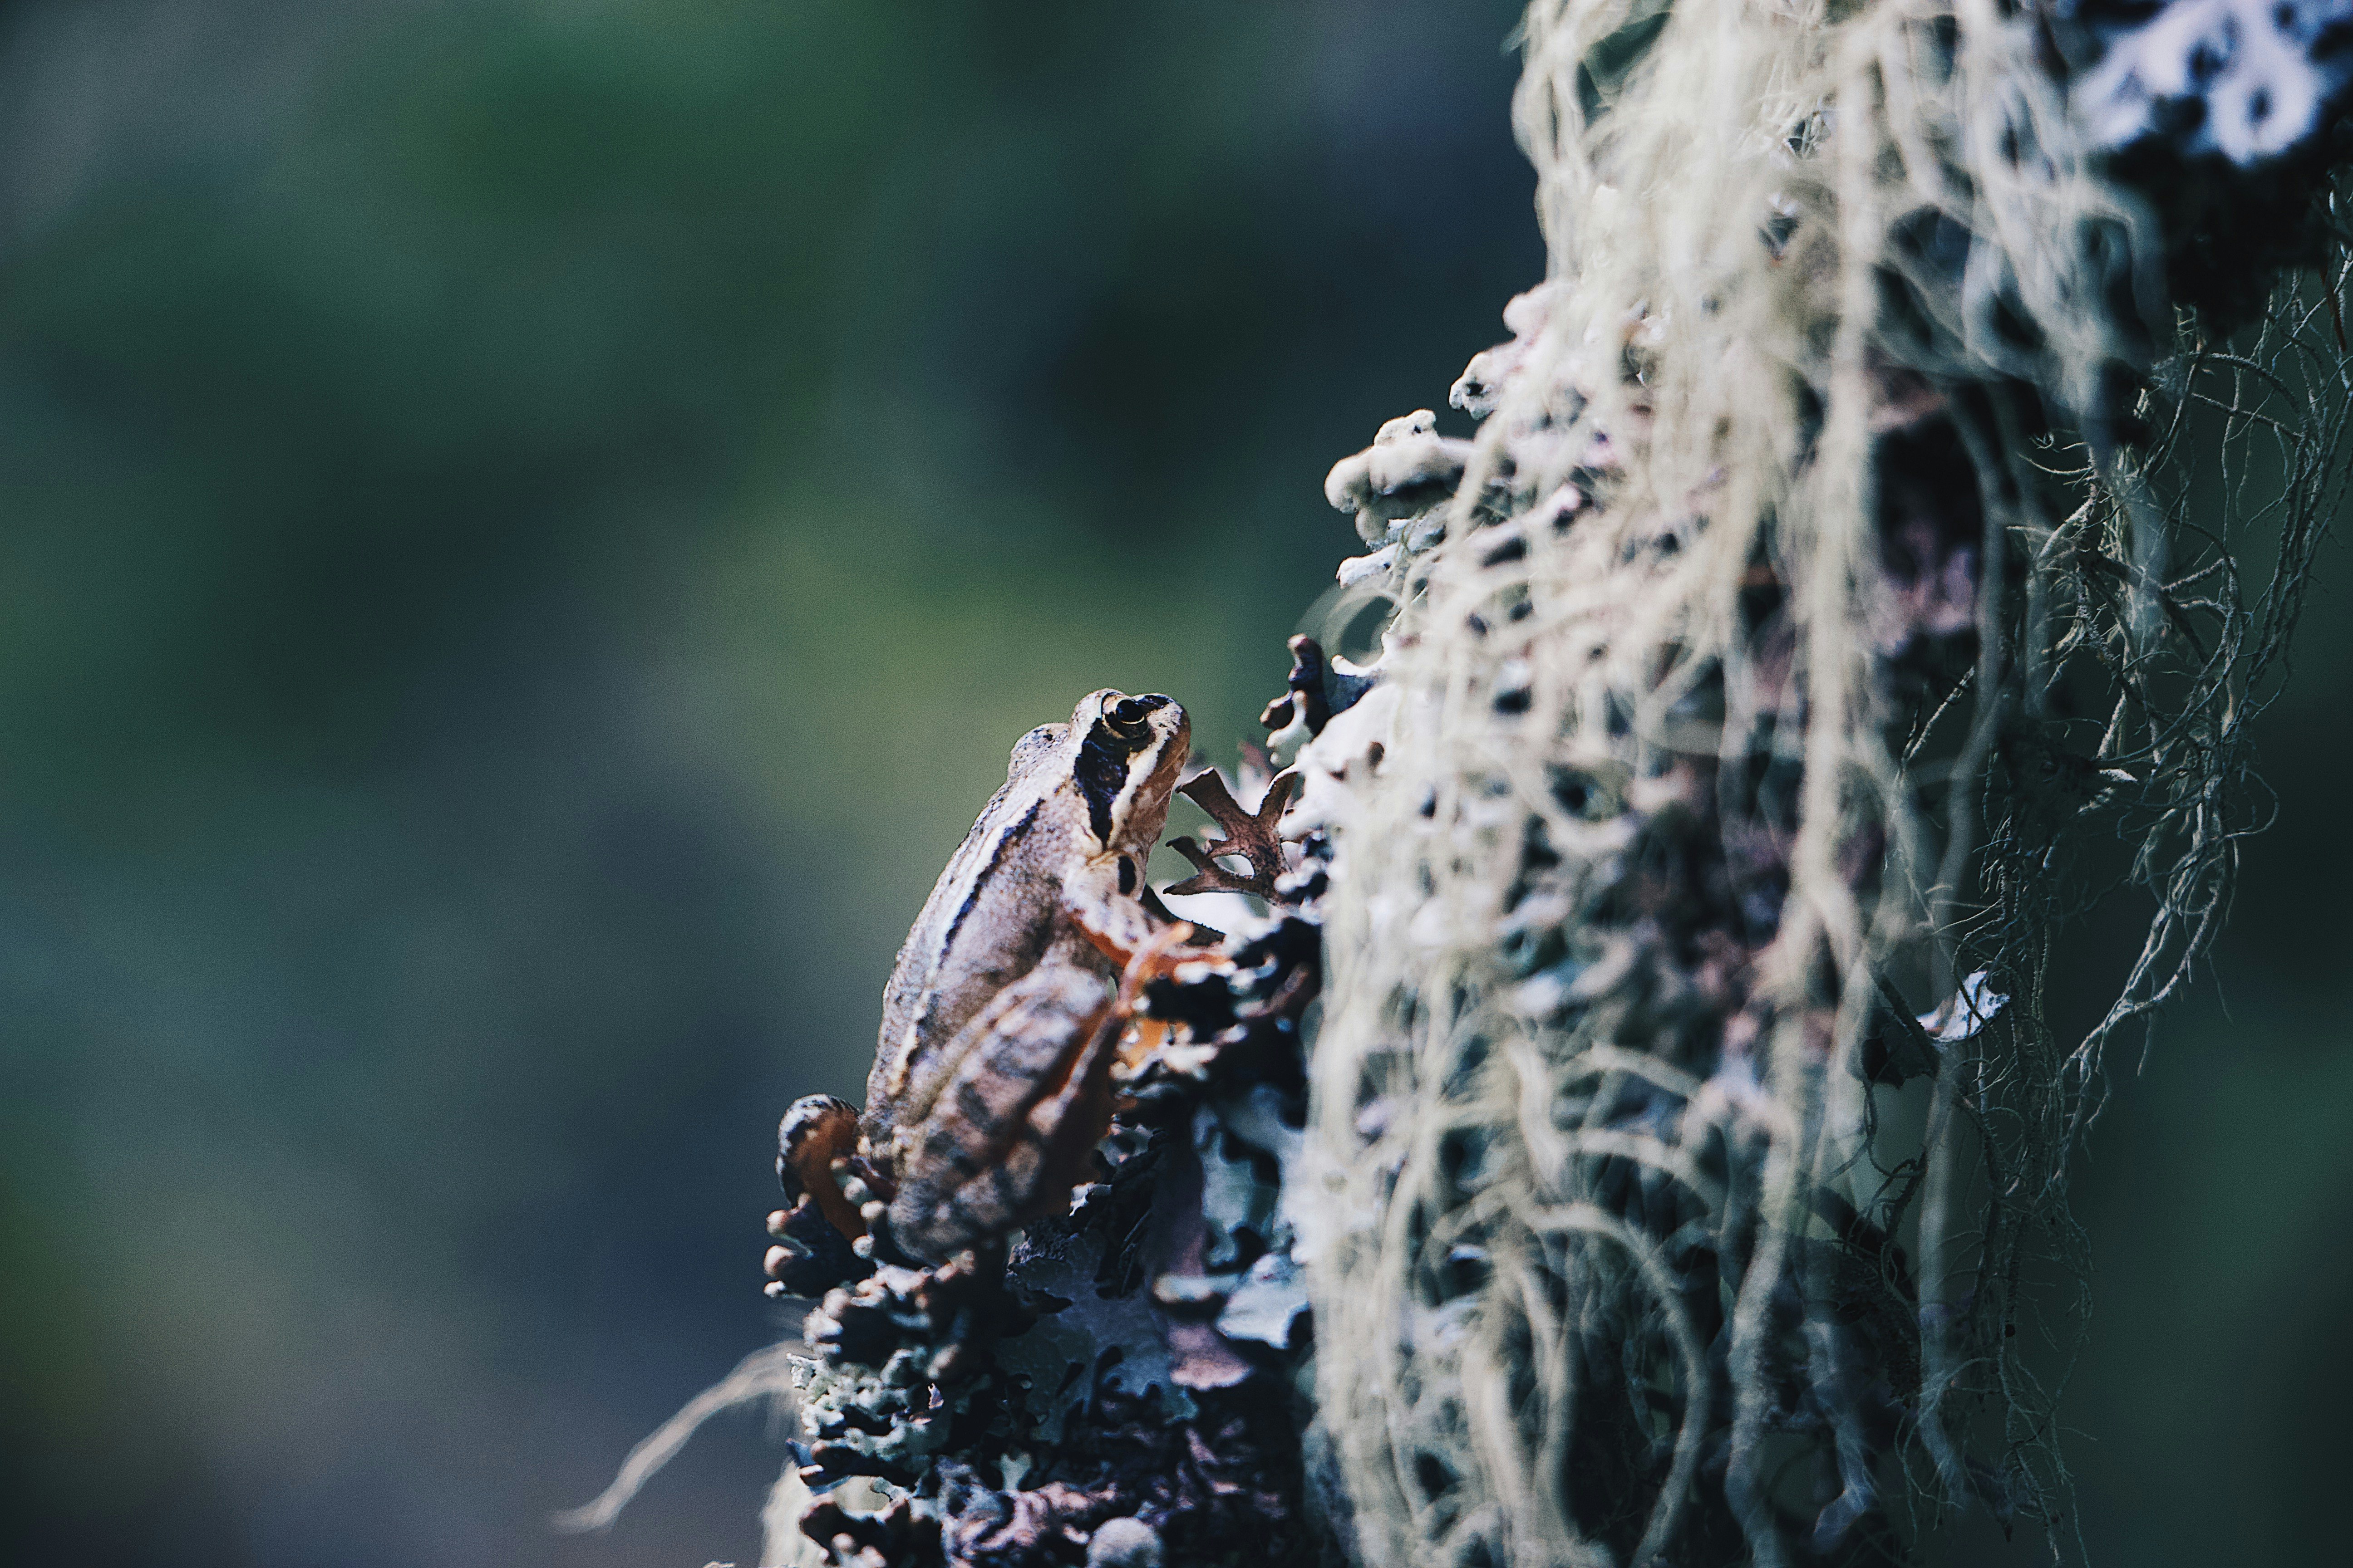
{"label": "frog's folded, dark-banded hind leg on the side facing the camera", "polygon": [[894,1147],[892,1239],[946,1258],[1054,1213],[1111,1124],[1118,990],[1049,957],[944,1053],[946,1074]]}

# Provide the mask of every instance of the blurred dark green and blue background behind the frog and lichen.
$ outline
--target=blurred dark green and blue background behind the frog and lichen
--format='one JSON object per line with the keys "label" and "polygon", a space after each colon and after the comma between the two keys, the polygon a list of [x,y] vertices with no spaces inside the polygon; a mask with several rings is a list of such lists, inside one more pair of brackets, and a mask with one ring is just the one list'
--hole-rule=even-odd
{"label": "blurred dark green and blue background behind the frog and lichen", "polygon": [[[774,1117],[1012,738],[1254,733],[1541,275],[1513,16],[0,0],[0,1559],[755,1561],[753,1418],[546,1519],[776,1335]],[[2108,1563],[2341,1544],[2325,574],[2085,1168]]]}

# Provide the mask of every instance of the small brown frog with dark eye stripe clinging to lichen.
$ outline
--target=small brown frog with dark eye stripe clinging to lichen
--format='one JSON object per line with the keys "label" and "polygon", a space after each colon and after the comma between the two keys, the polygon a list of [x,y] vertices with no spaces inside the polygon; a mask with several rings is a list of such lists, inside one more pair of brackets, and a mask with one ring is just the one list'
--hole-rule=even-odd
{"label": "small brown frog with dark eye stripe clinging to lichen", "polygon": [[1066,1204],[1111,1119],[1122,966],[1165,922],[1144,867],[1191,752],[1184,708],[1096,691],[1021,736],[915,917],[866,1079],[892,1239],[946,1258]]}

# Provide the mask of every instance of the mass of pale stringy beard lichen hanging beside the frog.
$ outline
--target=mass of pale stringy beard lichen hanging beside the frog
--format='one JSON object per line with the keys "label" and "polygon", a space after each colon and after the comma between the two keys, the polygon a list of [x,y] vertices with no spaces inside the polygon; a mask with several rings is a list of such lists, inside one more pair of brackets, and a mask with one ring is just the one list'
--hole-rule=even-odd
{"label": "mass of pale stringy beard lichen hanging beside the frog", "polygon": [[[1529,9],[1551,277],[1475,442],[1329,484],[1395,602],[1299,1194],[1365,1561],[2073,1552],[2068,1154],[2228,903],[2341,482],[2344,82],[2242,80],[2341,16],[2224,80],[2186,14]],[[2146,950],[2059,1039],[2108,893]]]}

